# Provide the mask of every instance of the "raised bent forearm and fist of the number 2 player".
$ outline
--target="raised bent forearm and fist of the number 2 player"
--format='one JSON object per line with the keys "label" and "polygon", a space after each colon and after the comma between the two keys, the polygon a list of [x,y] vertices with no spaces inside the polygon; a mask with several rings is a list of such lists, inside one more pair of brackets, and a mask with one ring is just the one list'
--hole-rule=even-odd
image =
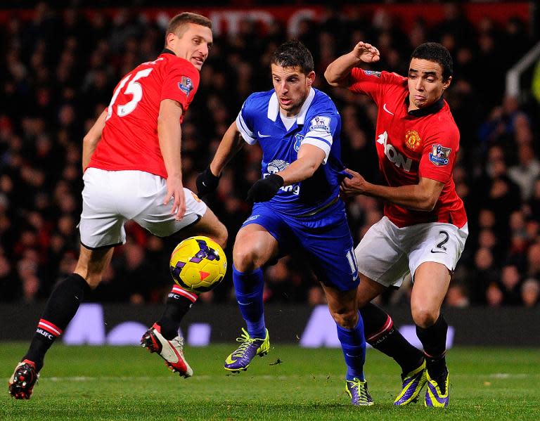
{"label": "raised bent forearm and fist of the number 2 player", "polygon": [[360,63],[374,63],[380,59],[379,50],[368,44],[360,41],[354,46],[350,53],[336,58],[326,67],[324,77],[326,82],[331,86],[340,86],[347,88],[350,86],[349,75],[353,67],[357,67]]}

